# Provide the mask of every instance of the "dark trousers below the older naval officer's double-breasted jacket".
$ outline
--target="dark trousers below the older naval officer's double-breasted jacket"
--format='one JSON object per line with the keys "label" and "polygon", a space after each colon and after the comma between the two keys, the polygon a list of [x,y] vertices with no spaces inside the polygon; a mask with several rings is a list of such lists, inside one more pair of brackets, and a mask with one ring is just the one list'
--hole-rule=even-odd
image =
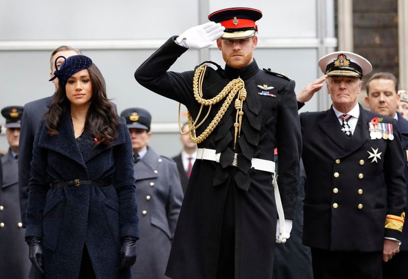
{"label": "dark trousers below the older naval officer's double-breasted jacket", "polygon": [[381,252],[331,252],[312,247],[314,279],[381,279]]}

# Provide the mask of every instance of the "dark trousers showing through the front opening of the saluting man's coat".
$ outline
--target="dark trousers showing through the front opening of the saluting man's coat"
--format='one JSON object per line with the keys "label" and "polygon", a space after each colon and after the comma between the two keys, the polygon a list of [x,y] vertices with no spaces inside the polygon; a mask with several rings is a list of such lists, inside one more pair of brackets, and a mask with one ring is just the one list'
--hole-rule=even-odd
{"label": "dark trousers showing through the front opening of the saluting man's coat", "polygon": [[220,253],[218,256],[217,279],[234,279],[235,269],[235,222],[234,193],[235,183],[229,183],[225,199],[224,216],[222,220]]}

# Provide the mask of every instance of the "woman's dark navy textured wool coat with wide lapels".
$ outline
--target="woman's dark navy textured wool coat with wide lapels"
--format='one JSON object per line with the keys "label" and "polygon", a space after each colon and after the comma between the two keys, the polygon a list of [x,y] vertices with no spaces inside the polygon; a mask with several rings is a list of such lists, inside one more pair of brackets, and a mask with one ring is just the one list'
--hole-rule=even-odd
{"label": "woman's dark navy textured wool coat with wide lapels", "polygon": [[[45,278],[77,278],[84,245],[96,278],[129,278],[118,272],[121,238],[138,237],[133,153],[129,129],[119,118],[118,136],[110,146],[94,146],[93,135],[75,140],[69,111],[59,134],[38,127],[31,163],[25,236],[41,238]],[[106,187],[81,185],[50,188],[53,180],[113,179]]]}

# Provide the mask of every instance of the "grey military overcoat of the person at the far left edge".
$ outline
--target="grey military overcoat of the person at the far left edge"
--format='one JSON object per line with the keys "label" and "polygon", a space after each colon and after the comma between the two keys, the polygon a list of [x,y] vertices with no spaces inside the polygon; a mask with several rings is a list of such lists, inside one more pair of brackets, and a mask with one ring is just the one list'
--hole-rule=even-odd
{"label": "grey military overcoat of the person at the far left edge", "polygon": [[18,203],[18,166],[11,149],[1,159],[3,185],[0,184],[0,278],[28,278],[31,262],[24,241]]}

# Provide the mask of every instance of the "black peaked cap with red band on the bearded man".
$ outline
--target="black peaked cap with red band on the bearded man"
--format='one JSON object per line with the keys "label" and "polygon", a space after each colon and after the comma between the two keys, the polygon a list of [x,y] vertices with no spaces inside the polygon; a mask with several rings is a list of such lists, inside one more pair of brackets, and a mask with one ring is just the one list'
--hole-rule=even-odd
{"label": "black peaked cap with red band on the bearded man", "polygon": [[228,8],[216,11],[208,19],[221,23],[225,27],[221,39],[237,40],[255,36],[258,26],[255,21],[262,17],[262,12],[252,8]]}

